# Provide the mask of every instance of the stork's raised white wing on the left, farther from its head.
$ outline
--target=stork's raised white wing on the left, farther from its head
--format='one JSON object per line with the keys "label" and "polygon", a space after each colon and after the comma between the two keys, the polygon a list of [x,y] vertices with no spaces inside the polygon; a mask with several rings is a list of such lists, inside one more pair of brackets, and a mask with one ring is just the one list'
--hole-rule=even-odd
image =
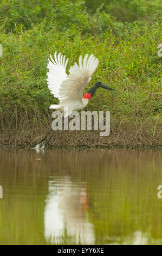
{"label": "stork's raised white wing on the left, farther from its head", "polygon": [[55,52],[54,59],[51,57],[49,60],[47,68],[49,72],[47,73],[47,84],[48,88],[50,89],[51,93],[54,94],[55,97],[58,97],[60,100],[59,89],[64,80],[67,78],[66,74],[66,66],[68,63],[68,59],[65,60],[65,56],[61,53],[57,55]]}

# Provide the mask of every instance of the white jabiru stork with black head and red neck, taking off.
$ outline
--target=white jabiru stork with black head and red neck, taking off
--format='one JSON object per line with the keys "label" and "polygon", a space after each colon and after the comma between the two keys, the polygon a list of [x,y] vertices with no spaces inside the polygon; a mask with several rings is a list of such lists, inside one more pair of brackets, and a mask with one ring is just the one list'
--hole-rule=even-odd
{"label": "white jabiru stork with black head and red neck, taking off", "polygon": [[[51,105],[49,108],[57,109],[62,112],[64,118],[68,117],[73,111],[85,108],[89,99],[94,96],[96,89],[99,87],[114,90],[98,81],[83,96],[85,87],[92,79],[91,76],[99,64],[99,59],[93,54],[89,57],[88,54],[86,54],[83,59],[82,56],[80,56],[79,65],[75,62],[69,69],[69,75],[66,73],[67,63],[68,59],[66,59],[66,56],[55,52],[54,59],[50,54],[47,65],[49,69],[49,72],[47,72],[48,88],[51,94],[60,101],[59,105]],[[66,111],[64,111],[64,109],[66,109]],[[40,144],[47,138],[52,130],[53,129],[50,129],[47,135],[41,139],[35,149],[40,148]],[[42,149],[46,147],[52,136],[53,135],[51,135],[49,140],[42,146]]]}

